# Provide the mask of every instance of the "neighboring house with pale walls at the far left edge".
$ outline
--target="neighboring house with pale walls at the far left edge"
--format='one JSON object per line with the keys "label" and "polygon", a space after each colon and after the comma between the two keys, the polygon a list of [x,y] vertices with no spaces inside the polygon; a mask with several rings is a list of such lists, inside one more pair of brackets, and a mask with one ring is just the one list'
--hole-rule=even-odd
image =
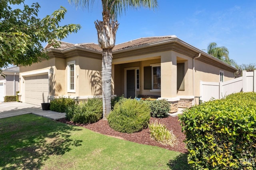
{"label": "neighboring house with pale walls at the far left edge", "polygon": [[18,66],[3,69],[6,76],[0,76],[0,102],[4,102],[4,96],[16,96],[19,91],[19,71]]}

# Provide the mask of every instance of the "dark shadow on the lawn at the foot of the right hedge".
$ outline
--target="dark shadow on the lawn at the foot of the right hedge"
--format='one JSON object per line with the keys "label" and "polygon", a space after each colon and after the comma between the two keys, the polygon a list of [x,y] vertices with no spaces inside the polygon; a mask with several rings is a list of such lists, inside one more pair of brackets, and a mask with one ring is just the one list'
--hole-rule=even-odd
{"label": "dark shadow on the lawn at the foot of the right hedge", "polygon": [[190,170],[188,164],[188,154],[181,153],[174,160],[170,160],[167,164],[172,170]]}

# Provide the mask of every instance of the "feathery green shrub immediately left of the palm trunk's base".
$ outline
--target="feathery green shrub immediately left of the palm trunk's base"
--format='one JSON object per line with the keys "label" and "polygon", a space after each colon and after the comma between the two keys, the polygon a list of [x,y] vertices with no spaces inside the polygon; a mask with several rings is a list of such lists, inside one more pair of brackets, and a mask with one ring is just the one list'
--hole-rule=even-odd
{"label": "feathery green shrub immediately left of the palm trunk's base", "polygon": [[102,118],[102,99],[88,99],[66,109],[67,119],[75,123],[95,123]]}

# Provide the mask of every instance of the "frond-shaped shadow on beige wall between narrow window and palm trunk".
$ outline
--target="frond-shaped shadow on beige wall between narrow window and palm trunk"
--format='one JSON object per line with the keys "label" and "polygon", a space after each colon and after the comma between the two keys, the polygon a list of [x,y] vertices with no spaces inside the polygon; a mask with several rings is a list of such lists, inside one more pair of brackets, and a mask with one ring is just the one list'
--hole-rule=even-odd
{"label": "frond-shaped shadow on beige wall between narrow window and palm trunk", "polygon": [[93,96],[102,95],[101,72],[96,70],[88,70],[87,76]]}

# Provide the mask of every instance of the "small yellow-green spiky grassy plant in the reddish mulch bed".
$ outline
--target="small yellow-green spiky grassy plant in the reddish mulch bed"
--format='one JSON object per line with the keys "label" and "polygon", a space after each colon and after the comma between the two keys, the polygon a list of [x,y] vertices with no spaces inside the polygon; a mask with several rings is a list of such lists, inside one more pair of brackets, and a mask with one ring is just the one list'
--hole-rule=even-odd
{"label": "small yellow-green spiky grassy plant in the reddish mulch bed", "polygon": [[173,146],[177,142],[177,138],[169,131],[165,125],[158,123],[156,120],[155,123],[151,122],[148,124],[150,137],[155,141],[163,144]]}

